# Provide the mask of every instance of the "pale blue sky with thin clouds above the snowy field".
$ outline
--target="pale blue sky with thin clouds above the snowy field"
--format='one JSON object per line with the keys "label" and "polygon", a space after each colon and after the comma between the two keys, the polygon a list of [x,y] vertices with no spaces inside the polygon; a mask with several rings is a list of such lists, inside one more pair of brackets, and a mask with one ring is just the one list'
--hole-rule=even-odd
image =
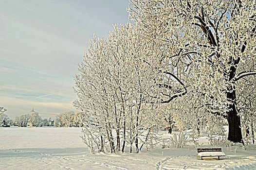
{"label": "pale blue sky with thin clouds above the snowy field", "polygon": [[[128,0],[0,0],[0,106],[10,118],[76,111],[73,76],[95,33],[128,21]],[[52,117],[54,115],[41,115]]]}

